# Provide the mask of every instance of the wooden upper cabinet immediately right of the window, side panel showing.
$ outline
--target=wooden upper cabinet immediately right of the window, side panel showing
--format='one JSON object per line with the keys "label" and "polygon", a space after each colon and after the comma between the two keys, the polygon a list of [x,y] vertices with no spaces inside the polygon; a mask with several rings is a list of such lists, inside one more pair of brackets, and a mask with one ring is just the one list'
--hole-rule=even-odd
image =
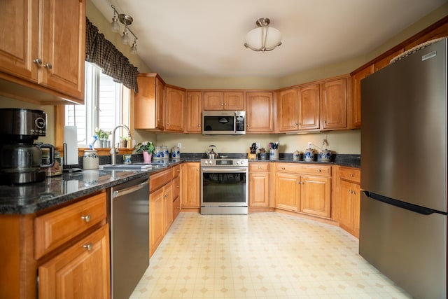
{"label": "wooden upper cabinet immediately right of the window, side panel showing", "polygon": [[134,127],[163,130],[165,127],[165,82],[158,74],[137,76],[139,92],[134,97]]}

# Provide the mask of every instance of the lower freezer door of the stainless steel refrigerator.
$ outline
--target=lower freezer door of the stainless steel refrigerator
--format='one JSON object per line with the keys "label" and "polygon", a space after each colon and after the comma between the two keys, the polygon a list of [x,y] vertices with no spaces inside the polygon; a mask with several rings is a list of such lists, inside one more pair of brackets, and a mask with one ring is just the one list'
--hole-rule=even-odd
{"label": "lower freezer door of the stainless steel refrigerator", "polygon": [[361,193],[359,253],[415,298],[447,298],[447,216],[421,214]]}

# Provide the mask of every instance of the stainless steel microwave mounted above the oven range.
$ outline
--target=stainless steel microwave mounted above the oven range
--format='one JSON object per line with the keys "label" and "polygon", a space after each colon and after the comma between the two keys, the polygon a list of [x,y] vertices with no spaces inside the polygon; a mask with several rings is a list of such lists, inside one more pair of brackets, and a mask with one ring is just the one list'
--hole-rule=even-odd
{"label": "stainless steel microwave mounted above the oven range", "polygon": [[246,111],[203,111],[202,134],[246,134]]}

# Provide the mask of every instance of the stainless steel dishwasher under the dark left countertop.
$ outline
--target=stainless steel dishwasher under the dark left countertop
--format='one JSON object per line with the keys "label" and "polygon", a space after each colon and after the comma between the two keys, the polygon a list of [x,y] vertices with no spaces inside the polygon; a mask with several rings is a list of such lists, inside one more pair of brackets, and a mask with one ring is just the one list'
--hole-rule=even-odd
{"label": "stainless steel dishwasher under the dark left countertop", "polygon": [[129,298],[149,266],[149,177],[112,187],[109,198],[111,295]]}

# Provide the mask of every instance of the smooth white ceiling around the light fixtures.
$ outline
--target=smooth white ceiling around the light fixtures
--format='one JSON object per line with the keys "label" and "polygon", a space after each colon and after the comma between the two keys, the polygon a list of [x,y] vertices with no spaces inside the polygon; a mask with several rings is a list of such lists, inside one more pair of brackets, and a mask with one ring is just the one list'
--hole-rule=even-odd
{"label": "smooth white ceiling around the light fixtures", "polygon": [[[107,20],[111,4],[134,18],[138,55],[162,77],[297,74],[365,55],[446,2],[92,0]],[[279,48],[261,53],[243,46],[258,18],[280,30]]]}

